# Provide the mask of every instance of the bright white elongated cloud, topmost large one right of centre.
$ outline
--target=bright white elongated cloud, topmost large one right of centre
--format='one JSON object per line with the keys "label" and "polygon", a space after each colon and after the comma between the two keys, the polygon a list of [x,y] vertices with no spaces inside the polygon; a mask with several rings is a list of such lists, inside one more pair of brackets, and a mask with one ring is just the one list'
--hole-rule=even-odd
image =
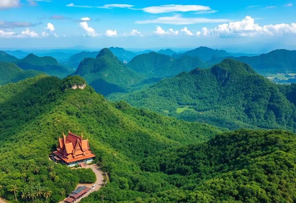
{"label": "bright white elongated cloud, topmost large one right of centre", "polygon": [[149,6],[142,9],[147,13],[159,14],[159,13],[170,13],[170,12],[189,12],[189,11],[210,11],[212,10],[209,6],[201,6],[201,5],[161,5],[161,6]]}

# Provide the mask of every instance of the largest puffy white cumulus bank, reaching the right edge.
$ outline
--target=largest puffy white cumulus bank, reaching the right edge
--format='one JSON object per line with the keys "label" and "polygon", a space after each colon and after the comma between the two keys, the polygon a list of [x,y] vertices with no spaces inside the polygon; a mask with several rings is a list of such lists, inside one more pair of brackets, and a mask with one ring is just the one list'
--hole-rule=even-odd
{"label": "largest puffy white cumulus bank, reaching the right edge", "polygon": [[269,24],[259,26],[254,19],[246,16],[242,21],[220,24],[214,29],[202,28],[202,35],[216,35],[220,37],[253,37],[258,35],[291,35],[296,34],[296,23]]}

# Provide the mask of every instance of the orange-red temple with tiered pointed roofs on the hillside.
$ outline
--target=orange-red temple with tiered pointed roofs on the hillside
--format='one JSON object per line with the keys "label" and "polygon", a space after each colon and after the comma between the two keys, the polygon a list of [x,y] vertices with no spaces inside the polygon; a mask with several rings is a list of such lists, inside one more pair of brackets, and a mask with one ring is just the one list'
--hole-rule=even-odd
{"label": "orange-red temple with tiered pointed roofs on the hillside", "polygon": [[89,140],[83,140],[83,134],[81,137],[74,135],[72,132],[68,132],[67,137],[63,132],[63,138],[59,138],[59,145],[57,151],[53,152],[56,156],[53,158],[57,161],[61,161],[68,166],[75,166],[76,164],[83,164],[91,162],[94,154],[89,150]]}

